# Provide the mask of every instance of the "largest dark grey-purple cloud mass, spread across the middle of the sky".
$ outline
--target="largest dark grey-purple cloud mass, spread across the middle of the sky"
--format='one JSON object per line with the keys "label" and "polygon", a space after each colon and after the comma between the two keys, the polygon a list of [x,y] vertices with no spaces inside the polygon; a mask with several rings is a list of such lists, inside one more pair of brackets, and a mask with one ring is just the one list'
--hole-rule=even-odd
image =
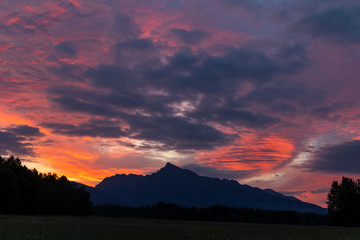
{"label": "largest dark grey-purple cloud mass, spread across the middle of the sky", "polygon": [[[138,51],[150,51],[149,55],[153,54],[156,59],[155,52],[158,51],[150,39],[139,38],[118,42],[115,49],[118,60],[121,54],[136,55]],[[127,62],[130,61],[131,56]],[[118,119],[130,129],[124,132],[118,126],[105,128],[94,122],[76,126],[46,123],[44,126],[64,135],[126,136],[156,142],[162,148],[173,150],[213,149],[233,139],[212,127],[213,123],[266,128],[281,122],[265,112],[246,109],[245,101],[236,100],[241,83],[269,83],[276,76],[297,72],[305,61],[301,46],[286,46],[271,56],[250,49],[228,49],[219,56],[183,50],[165,62],[159,59],[136,66],[127,66],[122,61],[98,65],[82,75],[93,90],[52,88],[49,98],[67,111]],[[267,95],[275,98],[279,93],[279,90],[269,89]],[[200,94],[202,98],[199,98]],[[292,92],[286,89],[282,94],[283,98],[296,98],[296,94],[302,92],[294,88]],[[259,95],[263,97],[263,94]],[[255,97],[249,95],[247,98]],[[269,103],[268,99],[263,101]],[[190,109],[180,110],[184,102],[191,106]]]}

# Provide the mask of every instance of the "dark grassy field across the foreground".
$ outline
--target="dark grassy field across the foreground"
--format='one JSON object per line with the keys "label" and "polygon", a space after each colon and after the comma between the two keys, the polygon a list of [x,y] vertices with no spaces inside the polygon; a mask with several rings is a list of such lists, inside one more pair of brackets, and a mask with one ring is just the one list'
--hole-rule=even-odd
{"label": "dark grassy field across the foreground", "polygon": [[0,216],[0,239],[360,239],[360,228],[101,217]]}

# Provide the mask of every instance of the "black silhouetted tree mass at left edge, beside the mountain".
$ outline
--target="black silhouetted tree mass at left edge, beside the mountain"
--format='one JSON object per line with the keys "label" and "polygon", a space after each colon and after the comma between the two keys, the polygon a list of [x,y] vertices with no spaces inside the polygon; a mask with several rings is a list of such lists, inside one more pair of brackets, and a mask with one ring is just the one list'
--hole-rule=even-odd
{"label": "black silhouetted tree mass at left edge, beside the mountain", "polygon": [[65,176],[39,173],[13,156],[0,156],[0,214],[75,214],[92,212],[90,195]]}

